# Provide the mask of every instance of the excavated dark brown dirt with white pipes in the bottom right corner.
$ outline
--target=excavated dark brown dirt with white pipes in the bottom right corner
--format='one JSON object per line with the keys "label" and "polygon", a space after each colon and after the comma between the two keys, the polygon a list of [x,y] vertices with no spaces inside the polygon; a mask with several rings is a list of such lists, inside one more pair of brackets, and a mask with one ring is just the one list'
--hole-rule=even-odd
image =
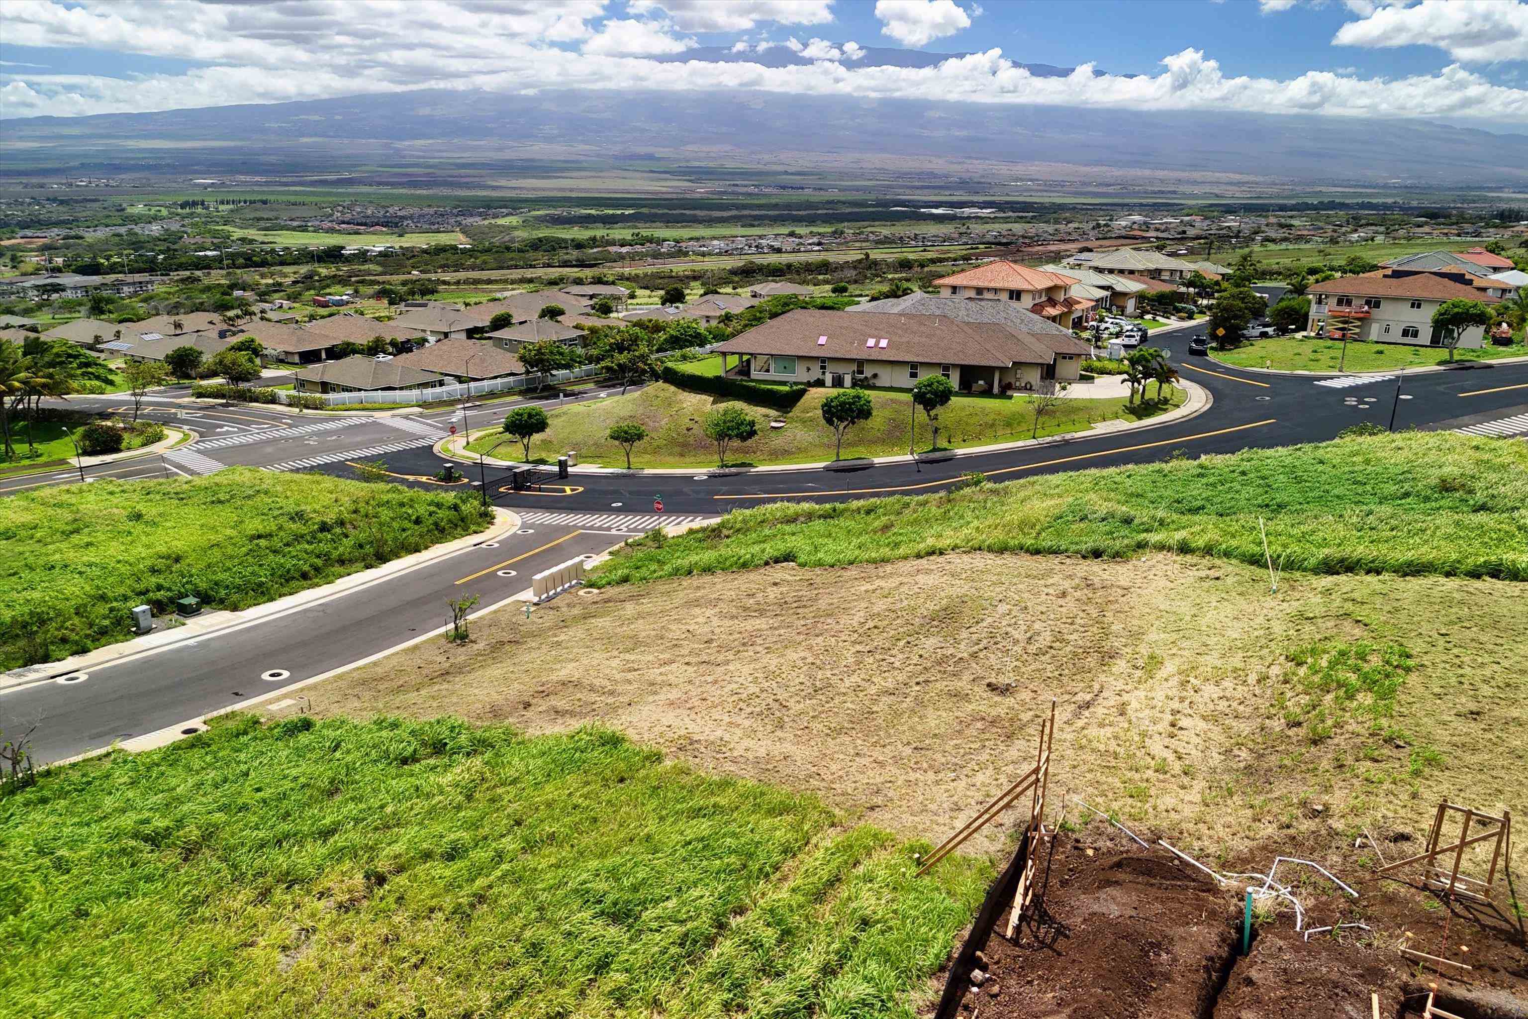
{"label": "excavated dark brown dirt with white pipes in the bottom right corner", "polygon": [[[1140,833],[1148,834],[1148,833]],[[990,935],[986,981],[972,987],[961,1014],[981,1019],[1371,1019],[1420,1014],[1429,988],[1439,1007],[1470,1019],[1528,1016],[1528,953],[1510,911],[1456,906],[1380,878],[1372,852],[1323,856],[1357,898],[1314,872],[1299,878],[1306,929],[1365,923],[1316,933],[1294,930],[1291,909],[1259,915],[1251,952],[1241,955],[1238,888],[1216,888],[1166,849],[1141,849],[1102,822],[1062,834],[1048,854],[1050,877],[1038,923],[1010,941],[1007,914]],[[1270,845],[1229,862],[1267,872],[1290,851]],[[1039,857],[1045,877],[1047,856]],[[1400,955],[1409,944],[1468,958],[1470,972],[1420,967]],[[1467,947],[1468,950],[1464,950]],[[1485,1002],[1490,1007],[1482,1007]]]}

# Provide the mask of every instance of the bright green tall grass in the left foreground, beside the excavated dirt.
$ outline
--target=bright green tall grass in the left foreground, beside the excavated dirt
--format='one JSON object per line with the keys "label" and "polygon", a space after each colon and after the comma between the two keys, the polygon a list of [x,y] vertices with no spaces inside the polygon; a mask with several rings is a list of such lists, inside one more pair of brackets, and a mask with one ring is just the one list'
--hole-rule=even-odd
{"label": "bright green tall grass in the left foreground, beside the excavated dirt", "polygon": [[232,717],[0,799],[17,1016],[898,1016],[990,865],[610,730]]}

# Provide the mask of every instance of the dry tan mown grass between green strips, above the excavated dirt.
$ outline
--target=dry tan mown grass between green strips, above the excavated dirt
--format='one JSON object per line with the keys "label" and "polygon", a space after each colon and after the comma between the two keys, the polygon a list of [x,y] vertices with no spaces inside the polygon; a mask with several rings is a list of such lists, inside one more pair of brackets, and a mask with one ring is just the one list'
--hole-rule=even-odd
{"label": "dry tan mown grass between green strips, above the excavated dirt", "polygon": [[[1033,762],[1051,697],[1053,794],[1206,851],[1415,833],[1444,794],[1494,813],[1528,785],[1528,588],[1505,582],[1285,574],[1270,594],[1265,571],[1187,556],[963,553],[607,588],[472,637],[318,684],[313,706],[533,733],[601,721],[935,840]],[[1284,654],[1322,637],[1410,649],[1389,720],[1404,736],[1349,720],[1313,744],[1285,724]],[[1442,761],[1413,775],[1421,747]]]}

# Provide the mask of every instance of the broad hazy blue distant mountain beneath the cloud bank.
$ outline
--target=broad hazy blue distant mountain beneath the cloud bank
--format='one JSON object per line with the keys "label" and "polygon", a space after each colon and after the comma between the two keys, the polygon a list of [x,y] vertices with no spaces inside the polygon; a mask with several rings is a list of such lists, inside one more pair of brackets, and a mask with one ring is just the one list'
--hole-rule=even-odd
{"label": "broad hazy blue distant mountain beneath the cloud bank", "polygon": [[[773,53],[775,50],[769,50]],[[788,52],[788,50],[787,50]],[[906,53],[906,50],[883,50]],[[795,53],[792,53],[795,57]],[[866,58],[868,60],[868,58]],[[1065,73],[1067,69],[1053,69]],[[736,167],[824,174],[993,180],[987,163],[1245,174],[1280,183],[1400,183],[1447,189],[1528,183],[1528,136],[1429,121],[1213,112],[972,105],[766,92],[420,90],[165,113],[5,121],[5,176],[309,174],[359,168],[512,177],[587,162]],[[981,173],[972,170],[983,165]],[[911,168],[909,168],[911,167]],[[1001,173],[1001,171],[999,171]],[[863,177],[860,177],[863,179]],[[1170,189],[1183,177],[1163,180]],[[400,179],[396,183],[408,185]]]}

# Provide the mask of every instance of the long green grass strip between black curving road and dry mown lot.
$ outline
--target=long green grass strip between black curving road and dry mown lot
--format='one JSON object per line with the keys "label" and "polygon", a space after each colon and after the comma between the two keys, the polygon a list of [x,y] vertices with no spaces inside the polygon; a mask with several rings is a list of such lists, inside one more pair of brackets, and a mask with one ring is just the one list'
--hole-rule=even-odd
{"label": "long green grass strip between black curving road and dry mown lot", "polygon": [[1528,445],[1450,432],[1247,449],[953,495],[775,503],[663,539],[648,535],[591,584],[886,562],[953,550],[1131,556],[1167,550],[1309,573],[1528,581]]}

